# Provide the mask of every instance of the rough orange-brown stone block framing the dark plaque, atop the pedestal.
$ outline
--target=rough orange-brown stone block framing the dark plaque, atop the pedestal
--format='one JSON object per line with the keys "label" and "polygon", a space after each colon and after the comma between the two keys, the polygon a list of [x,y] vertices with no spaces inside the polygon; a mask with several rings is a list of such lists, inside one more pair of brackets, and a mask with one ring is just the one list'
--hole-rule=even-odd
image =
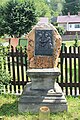
{"label": "rough orange-brown stone block framing the dark plaque, atop the pedestal", "polygon": [[[45,47],[44,48],[42,47],[43,51],[45,52],[45,53],[43,52],[44,55],[35,55],[36,31],[42,31],[42,32],[47,31],[47,34],[49,36],[46,37],[45,36],[46,34],[43,34],[44,40],[42,40],[42,41],[43,41],[43,45],[44,45],[46,39],[49,38],[49,41],[51,41],[51,39],[52,39],[52,41],[53,41],[52,55],[45,54],[45,53],[48,53],[48,52],[46,52],[46,51],[48,51],[48,49],[46,49],[46,51],[44,51]],[[50,36],[50,31],[52,31],[52,36]],[[41,37],[39,37],[38,35],[37,35],[37,37],[38,37],[37,41],[39,42]],[[50,37],[51,37],[51,39],[50,39]],[[51,25],[50,23],[36,24],[33,27],[33,29],[28,33],[27,39],[28,39],[28,48],[27,48],[28,53],[27,54],[28,54],[28,59],[29,59],[29,63],[30,63],[29,68],[54,68],[54,67],[57,67],[62,39],[61,39],[61,36],[59,35],[58,31],[56,30],[56,28],[53,25]],[[47,42],[46,42],[46,44],[47,44]],[[49,44],[50,44],[50,42],[49,42]],[[51,52],[50,52],[50,54],[51,54]],[[33,57],[34,57],[34,59],[33,59]],[[35,62],[33,61],[33,63],[31,63],[32,59]]]}

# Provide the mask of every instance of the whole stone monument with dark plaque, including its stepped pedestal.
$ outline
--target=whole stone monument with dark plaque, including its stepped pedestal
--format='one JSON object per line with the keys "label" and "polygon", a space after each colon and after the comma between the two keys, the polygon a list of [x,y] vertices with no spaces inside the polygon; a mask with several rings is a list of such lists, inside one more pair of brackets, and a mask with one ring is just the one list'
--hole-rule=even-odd
{"label": "whole stone monument with dark plaque, including its stepped pedestal", "polygon": [[67,101],[56,83],[60,75],[57,68],[61,49],[61,36],[56,28],[42,18],[29,32],[27,83],[19,99],[19,112],[38,112],[41,106],[47,106],[51,112],[67,111]]}

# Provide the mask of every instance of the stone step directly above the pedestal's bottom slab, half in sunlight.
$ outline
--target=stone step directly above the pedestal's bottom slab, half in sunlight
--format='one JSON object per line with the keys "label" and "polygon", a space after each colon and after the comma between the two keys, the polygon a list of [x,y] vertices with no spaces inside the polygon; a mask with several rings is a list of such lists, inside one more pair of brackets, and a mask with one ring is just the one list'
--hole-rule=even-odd
{"label": "stone step directly above the pedestal's bottom slab, half in sunlight", "polygon": [[48,96],[22,96],[20,103],[66,103],[65,97],[48,97]]}

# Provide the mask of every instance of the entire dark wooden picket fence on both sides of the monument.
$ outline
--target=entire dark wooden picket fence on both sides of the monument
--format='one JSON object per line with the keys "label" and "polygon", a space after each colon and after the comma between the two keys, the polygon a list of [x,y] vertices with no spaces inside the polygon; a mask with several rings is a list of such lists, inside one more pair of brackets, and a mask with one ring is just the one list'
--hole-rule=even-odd
{"label": "entire dark wooden picket fence on both sides of the monument", "polygon": [[[5,69],[8,69],[12,76],[9,86],[5,86],[5,92],[22,93],[24,86],[29,81],[27,76],[27,52],[26,47],[8,49]],[[4,52],[4,50],[3,50]],[[64,47],[61,50],[58,67],[61,75],[57,82],[66,95],[80,94],[80,46]]]}

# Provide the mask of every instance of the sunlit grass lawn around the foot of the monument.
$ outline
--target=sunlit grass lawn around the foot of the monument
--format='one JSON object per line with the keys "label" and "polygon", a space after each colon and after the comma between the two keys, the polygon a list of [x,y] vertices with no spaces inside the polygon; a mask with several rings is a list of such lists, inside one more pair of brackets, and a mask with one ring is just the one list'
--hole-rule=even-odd
{"label": "sunlit grass lawn around the foot of the monument", "polygon": [[[66,97],[68,112],[54,113],[50,120],[80,120],[80,97]],[[0,116],[4,120],[38,120],[38,114],[18,113],[18,97],[14,95],[0,95]]]}

